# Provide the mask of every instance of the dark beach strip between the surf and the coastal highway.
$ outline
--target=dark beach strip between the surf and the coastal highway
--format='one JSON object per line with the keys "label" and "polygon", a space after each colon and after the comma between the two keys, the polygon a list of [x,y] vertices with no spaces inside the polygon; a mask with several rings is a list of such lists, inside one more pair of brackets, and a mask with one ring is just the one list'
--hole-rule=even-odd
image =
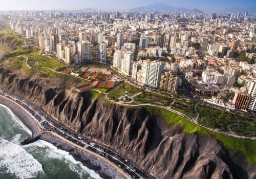
{"label": "dark beach strip between the surf and the coastal highway", "polygon": [[[8,107],[12,113],[32,132],[33,135],[41,135],[41,129],[36,123],[36,119],[20,104],[11,99],[0,95],[0,104]],[[90,170],[94,170],[102,178],[123,178],[123,174],[118,172],[118,168],[113,164],[108,163],[94,153],[90,153],[84,149],[79,148],[70,141],[62,139],[55,133],[43,132],[41,140],[49,142],[56,146],[58,149],[68,151],[76,161],[81,162]],[[110,167],[111,166],[111,167]]]}

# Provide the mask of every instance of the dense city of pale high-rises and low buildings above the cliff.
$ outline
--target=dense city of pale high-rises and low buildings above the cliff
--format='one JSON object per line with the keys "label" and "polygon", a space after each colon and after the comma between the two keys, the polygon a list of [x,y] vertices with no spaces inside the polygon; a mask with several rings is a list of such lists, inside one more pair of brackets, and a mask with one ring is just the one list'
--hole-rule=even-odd
{"label": "dense city of pale high-rises and low buildings above the cliff", "polygon": [[2,12],[26,46],[67,63],[106,62],[139,85],[191,90],[230,109],[256,111],[253,14],[126,11]]}

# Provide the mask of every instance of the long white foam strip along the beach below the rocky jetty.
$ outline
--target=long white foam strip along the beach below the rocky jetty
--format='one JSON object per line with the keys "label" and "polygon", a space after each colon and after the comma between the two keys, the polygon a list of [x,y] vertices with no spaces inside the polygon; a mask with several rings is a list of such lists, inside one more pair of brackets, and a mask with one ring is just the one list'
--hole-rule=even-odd
{"label": "long white foam strip along the beach below the rocky jetty", "polygon": [[73,158],[73,156],[69,154],[69,152],[60,150],[49,142],[38,140],[34,143],[26,145],[25,147],[29,146],[47,148],[46,152],[44,153],[47,156],[47,158],[66,161],[69,164],[70,169],[77,172],[80,176],[82,176],[84,174],[84,171],[86,171],[86,173],[89,173],[93,178],[101,178],[100,175],[96,173],[94,170],[90,170],[86,166],[83,166],[81,162],[76,161]]}

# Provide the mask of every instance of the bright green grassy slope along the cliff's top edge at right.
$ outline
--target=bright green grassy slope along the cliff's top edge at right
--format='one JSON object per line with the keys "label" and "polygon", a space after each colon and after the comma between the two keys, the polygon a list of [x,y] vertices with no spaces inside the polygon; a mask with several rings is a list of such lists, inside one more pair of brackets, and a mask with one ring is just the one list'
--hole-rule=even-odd
{"label": "bright green grassy slope along the cliff's top edge at right", "polygon": [[184,119],[182,116],[174,114],[165,109],[156,108],[156,107],[146,107],[149,113],[156,115],[157,117],[161,116],[169,125],[169,127],[173,127],[174,125],[183,126],[184,133],[194,133],[197,132],[200,136],[215,136],[216,139],[226,148],[233,151],[241,151],[245,156],[246,160],[249,163],[256,163],[256,142],[245,140],[245,139],[237,139],[233,137],[229,137],[226,135],[222,135],[221,133],[214,132],[203,128],[199,125],[191,123]]}

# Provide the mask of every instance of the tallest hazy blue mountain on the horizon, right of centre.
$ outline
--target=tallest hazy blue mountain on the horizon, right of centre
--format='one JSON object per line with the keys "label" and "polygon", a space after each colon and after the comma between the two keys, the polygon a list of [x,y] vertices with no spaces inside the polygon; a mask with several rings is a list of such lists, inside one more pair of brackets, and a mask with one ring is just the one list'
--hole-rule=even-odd
{"label": "tallest hazy blue mountain on the horizon, right of centre", "polygon": [[129,9],[129,11],[176,11],[176,12],[195,12],[203,13],[199,9],[186,9],[186,8],[174,8],[162,3],[155,3],[151,5],[141,6],[138,8]]}

